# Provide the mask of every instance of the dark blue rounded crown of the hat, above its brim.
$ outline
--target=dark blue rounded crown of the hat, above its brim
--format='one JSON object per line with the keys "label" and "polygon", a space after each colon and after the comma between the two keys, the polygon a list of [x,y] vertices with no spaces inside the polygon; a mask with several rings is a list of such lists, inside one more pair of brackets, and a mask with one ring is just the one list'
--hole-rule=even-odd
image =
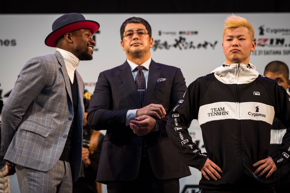
{"label": "dark blue rounded crown of the hat, above its brim", "polygon": [[63,26],[66,26],[69,23],[74,23],[77,21],[84,21],[86,20],[85,17],[80,13],[67,13],[62,15],[61,17],[57,18],[52,23],[52,31],[57,30]]}

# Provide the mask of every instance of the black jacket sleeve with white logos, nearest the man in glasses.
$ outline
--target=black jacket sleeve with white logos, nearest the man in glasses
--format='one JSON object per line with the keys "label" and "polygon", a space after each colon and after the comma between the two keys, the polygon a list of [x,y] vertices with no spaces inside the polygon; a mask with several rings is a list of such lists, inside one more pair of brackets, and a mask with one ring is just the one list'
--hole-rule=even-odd
{"label": "black jacket sleeve with white logos, nearest the man in glasses", "polygon": [[197,119],[202,96],[213,79],[214,75],[209,74],[191,83],[170,112],[166,125],[166,131],[177,149],[177,154],[186,165],[198,170],[201,170],[208,156],[206,153],[201,153],[193,143],[186,126],[193,119]]}

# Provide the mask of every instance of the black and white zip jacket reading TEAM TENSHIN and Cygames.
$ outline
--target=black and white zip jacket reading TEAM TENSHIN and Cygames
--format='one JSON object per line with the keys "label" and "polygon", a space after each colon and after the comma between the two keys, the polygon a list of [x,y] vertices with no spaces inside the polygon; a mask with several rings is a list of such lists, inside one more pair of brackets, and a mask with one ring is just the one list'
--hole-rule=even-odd
{"label": "black and white zip jacket reading TEAM TENSHIN and Cygames", "polygon": [[[290,99],[286,90],[273,79],[259,75],[252,64],[222,65],[196,79],[169,114],[166,130],[180,158],[201,170],[207,158],[223,173],[218,181],[204,176],[202,189],[259,188],[274,186],[272,174],[258,177],[253,164],[267,158],[271,125],[277,117],[287,128]],[[197,119],[202,129],[202,153],[186,129]],[[290,155],[290,131],[281,148],[271,155],[276,166],[285,165]],[[177,166],[178,167],[178,166]]]}

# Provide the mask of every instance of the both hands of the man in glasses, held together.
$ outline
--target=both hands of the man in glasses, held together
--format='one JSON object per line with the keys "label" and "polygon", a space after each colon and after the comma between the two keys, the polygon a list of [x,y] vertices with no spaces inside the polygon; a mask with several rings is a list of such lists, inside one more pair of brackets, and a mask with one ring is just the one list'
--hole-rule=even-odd
{"label": "both hands of the man in glasses, held together", "polygon": [[151,116],[162,119],[165,117],[165,115],[166,111],[162,105],[147,105],[146,107],[137,110],[135,118],[136,121],[131,121],[130,128],[138,136],[147,135],[152,130],[156,129],[156,120]]}

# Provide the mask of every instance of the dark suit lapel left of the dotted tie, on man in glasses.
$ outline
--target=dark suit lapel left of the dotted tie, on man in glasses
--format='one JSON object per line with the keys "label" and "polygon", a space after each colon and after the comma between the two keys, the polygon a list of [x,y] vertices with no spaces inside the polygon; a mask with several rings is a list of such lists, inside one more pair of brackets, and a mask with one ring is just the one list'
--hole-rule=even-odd
{"label": "dark suit lapel left of the dotted tie, on man in glasses", "polygon": [[134,103],[137,105],[138,109],[142,108],[139,95],[137,92],[137,87],[132,76],[132,71],[127,61],[121,66],[119,77],[124,83],[126,89],[128,90],[130,96],[132,97]]}

